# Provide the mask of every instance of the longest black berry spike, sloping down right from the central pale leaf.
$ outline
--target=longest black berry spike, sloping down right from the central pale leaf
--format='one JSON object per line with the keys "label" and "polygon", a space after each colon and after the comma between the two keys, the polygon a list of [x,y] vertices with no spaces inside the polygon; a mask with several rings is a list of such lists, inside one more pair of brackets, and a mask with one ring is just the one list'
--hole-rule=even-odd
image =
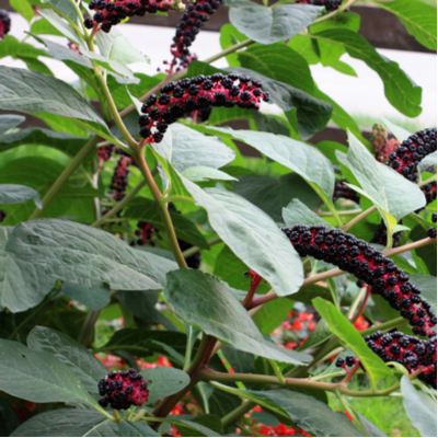
{"label": "longest black berry spike, sloping down right from the central pale leaf", "polygon": [[419,296],[418,287],[392,260],[369,243],[322,226],[296,226],[281,231],[300,256],[311,255],[332,263],[371,286],[372,293],[379,293],[393,309],[401,311],[401,315],[414,326],[415,334],[426,336],[434,333],[437,318],[429,302]]}

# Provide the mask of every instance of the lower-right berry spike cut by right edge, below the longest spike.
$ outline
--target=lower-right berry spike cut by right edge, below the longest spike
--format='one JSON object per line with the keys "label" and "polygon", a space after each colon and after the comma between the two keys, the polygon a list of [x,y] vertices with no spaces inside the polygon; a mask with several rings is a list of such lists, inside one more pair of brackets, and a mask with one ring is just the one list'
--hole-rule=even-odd
{"label": "lower-right berry spike cut by right edge, below the longest spike", "polygon": [[424,367],[420,380],[437,388],[437,335],[423,341],[402,332],[383,334],[377,331],[365,337],[367,345],[385,362],[399,362],[410,372]]}

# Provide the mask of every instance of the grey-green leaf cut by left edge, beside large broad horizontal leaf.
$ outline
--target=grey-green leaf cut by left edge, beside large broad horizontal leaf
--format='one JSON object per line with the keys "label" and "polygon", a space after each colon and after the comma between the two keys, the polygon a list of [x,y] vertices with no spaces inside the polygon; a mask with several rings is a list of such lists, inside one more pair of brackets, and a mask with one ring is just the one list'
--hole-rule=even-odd
{"label": "grey-green leaf cut by left edge, beside large broad horizontal leaf", "polygon": [[12,227],[0,227],[0,306],[21,312],[38,304],[55,284],[41,269],[5,251]]}

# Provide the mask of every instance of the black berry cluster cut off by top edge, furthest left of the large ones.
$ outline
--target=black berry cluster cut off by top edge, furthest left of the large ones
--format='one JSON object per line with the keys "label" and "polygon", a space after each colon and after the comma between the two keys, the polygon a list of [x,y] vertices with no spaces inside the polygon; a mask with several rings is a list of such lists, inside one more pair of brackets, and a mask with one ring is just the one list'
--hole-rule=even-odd
{"label": "black berry cluster cut off by top edge, furthest left of the large ones", "polygon": [[143,16],[146,13],[169,10],[184,10],[180,0],[91,0],[90,10],[96,11],[93,18],[84,21],[87,28],[101,26],[103,32],[120,23],[128,16]]}

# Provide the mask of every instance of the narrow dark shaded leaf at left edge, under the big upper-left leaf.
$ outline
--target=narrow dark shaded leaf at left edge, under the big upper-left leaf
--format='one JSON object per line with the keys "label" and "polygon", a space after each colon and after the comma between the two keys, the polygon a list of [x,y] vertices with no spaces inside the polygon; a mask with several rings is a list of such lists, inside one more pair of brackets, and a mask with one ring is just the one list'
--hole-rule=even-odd
{"label": "narrow dark shaded leaf at left edge, under the big upper-left leaf", "polygon": [[74,157],[85,145],[87,137],[77,137],[45,128],[25,128],[0,136],[0,152],[22,145],[48,146]]}

